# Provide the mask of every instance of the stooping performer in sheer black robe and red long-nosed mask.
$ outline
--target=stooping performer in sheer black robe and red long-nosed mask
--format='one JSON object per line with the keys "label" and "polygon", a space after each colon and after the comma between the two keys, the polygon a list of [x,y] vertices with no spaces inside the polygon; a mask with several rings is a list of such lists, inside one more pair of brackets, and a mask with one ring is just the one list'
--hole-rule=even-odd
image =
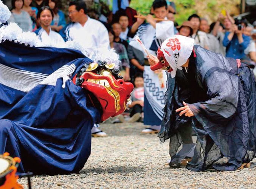
{"label": "stooping performer in sheer black robe and red long-nosed mask", "polygon": [[162,43],[158,57],[149,57],[152,70],[164,67],[170,73],[158,134],[161,141],[170,138],[170,165],[177,163],[182,141],[191,139],[192,127],[197,142],[188,169],[248,166],[256,152],[255,78],[239,60],[193,43],[188,37],[174,36]]}

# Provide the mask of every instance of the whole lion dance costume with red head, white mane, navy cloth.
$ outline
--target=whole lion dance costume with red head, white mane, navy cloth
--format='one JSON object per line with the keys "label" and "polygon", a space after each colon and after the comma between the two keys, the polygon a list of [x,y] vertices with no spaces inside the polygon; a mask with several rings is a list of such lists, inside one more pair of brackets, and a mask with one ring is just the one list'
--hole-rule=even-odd
{"label": "whole lion dance costume with red head, white mane, navy cloth", "polygon": [[6,20],[0,15],[0,154],[19,157],[19,172],[78,172],[93,124],[122,113],[133,85],[119,76],[112,50],[92,60],[68,46],[40,47]]}

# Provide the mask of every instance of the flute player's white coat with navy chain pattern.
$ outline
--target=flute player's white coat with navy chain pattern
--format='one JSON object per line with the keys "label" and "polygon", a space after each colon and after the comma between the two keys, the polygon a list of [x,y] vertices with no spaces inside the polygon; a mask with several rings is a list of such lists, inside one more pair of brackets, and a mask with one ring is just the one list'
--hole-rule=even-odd
{"label": "flute player's white coat with navy chain pattern", "polygon": [[[166,18],[167,19],[167,18]],[[135,37],[140,37],[142,43],[150,54],[157,55],[157,48],[169,37],[174,36],[174,23],[172,21],[162,21],[156,23],[156,28],[152,25],[141,25]],[[147,58],[147,54],[143,51],[139,43],[135,40],[135,37],[131,40],[129,45],[140,50],[144,54],[144,58]],[[154,44],[154,45],[153,45]],[[155,47],[155,50],[150,50],[150,47]],[[162,73],[161,73],[162,72]],[[150,70],[149,66],[144,66],[144,92],[153,112],[144,111],[145,118],[155,114],[160,120],[163,118],[164,108],[164,93],[166,91],[166,79],[167,76],[164,70],[159,70],[158,73]],[[164,85],[164,86],[163,86]],[[150,125],[150,123],[146,123]],[[159,123],[160,124],[160,123]]]}

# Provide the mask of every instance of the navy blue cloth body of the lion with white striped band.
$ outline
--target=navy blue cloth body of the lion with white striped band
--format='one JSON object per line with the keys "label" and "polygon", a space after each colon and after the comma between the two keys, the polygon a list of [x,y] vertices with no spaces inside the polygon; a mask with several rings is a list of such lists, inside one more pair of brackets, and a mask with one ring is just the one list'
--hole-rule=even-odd
{"label": "navy blue cloth body of the lion with white striped band", "polygon": [[77,172],[91,150],[100,112],[71,78],[92,60],[80,51],[0,43],[0,154],[19,172]]}

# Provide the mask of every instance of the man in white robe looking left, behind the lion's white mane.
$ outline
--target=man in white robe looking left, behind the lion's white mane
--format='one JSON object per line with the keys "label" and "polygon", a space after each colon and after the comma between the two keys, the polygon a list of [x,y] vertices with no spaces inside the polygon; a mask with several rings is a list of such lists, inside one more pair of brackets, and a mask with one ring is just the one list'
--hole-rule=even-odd
{"label": "man in white robe looking left, behind the lion's white mane", "polygon": [[98,20],[88,17],[84,1],[69,3],[68,15],[71,24],[62,29],[65,40],[76,40],[90,53],[96,48],[109,47],[109,33],[107,28]]}

